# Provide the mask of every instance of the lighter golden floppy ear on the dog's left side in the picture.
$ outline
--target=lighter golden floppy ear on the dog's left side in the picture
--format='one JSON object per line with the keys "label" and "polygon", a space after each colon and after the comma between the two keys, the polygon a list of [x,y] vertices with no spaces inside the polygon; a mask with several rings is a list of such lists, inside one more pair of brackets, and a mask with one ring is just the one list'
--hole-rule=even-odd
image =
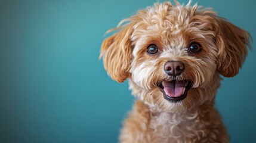
{"label": "lighter golden floppy ear on the dog's left side in the picture", "polygon": [[124,82],[130,76],[133,26],[132,23],[127,24],[118,33],[106,38],[101,45],[100,57],[103,57],[104,68],[117,82]]}

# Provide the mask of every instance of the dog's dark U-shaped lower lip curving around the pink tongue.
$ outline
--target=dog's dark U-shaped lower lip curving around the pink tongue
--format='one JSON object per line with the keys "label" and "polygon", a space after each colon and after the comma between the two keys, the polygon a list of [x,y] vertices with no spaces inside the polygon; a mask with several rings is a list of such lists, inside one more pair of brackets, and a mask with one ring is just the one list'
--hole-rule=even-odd
{"label": "dog's dark U-shaped lower lip curving around the pink tongue", "polygon": [[[172,80],[173,81],[173,80]],[[172,82],[169,81],[169,82]],[[192,87],[193,83],[190,80],[187,80],[186,84],[185,84],[185,88],[183,89],[182,95],[178,96],[178,97],[170,97],[166,94],[166,92],[164,91],[164,86],[162,85],[162,82],[159,83],[158,88],[160,89],[160,91],[164,94],[164,98],[165,100],[168,100],[170,102],[178,102],[178,101],[182,101],[187,97],[187,92],[189,91],[189,89]]]}

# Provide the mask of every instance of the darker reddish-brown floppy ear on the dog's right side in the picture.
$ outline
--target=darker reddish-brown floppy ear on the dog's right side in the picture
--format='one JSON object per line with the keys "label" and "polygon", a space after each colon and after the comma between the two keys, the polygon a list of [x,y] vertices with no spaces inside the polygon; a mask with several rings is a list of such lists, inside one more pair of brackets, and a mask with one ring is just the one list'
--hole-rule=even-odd
{"label": "darker reddish-brown floppy ear on the dog's right side in the picture", "polygon": [[217,71],[225,77],[233,77],[238,74],[247,55],[247,48],[251,40],[248,32],[224,18],[218,18],[217,46],[218,61]]}

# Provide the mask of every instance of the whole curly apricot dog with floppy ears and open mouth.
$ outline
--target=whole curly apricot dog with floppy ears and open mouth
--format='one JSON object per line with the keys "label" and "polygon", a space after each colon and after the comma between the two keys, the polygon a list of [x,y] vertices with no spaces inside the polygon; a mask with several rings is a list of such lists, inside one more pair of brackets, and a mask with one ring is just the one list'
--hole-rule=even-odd
{"label": "whole curly apricot dog with floppy ears and open mouth", "polygon": [[215,95],[221,75],[238,74],[251,36],[191,3],[156,3],[104,39],[104,69],[117,82],[128,79],[137,98],[120,142],[229,142]]}

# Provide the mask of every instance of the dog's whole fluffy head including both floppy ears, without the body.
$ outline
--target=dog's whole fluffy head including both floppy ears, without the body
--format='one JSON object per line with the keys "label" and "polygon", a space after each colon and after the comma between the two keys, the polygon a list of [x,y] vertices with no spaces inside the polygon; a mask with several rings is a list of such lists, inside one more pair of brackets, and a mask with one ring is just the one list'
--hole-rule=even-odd
{"label": "dog's whole fluffy head including both floppy ears, without the body", "polygon": [[101,46],[104,67],[118,82],[129,78],[134,94],[160,110],[212,100],[209,86],[218,88],[219,74],[238,74],[247,54],[249,33],[196,5],[155,4],[125,21]]}

